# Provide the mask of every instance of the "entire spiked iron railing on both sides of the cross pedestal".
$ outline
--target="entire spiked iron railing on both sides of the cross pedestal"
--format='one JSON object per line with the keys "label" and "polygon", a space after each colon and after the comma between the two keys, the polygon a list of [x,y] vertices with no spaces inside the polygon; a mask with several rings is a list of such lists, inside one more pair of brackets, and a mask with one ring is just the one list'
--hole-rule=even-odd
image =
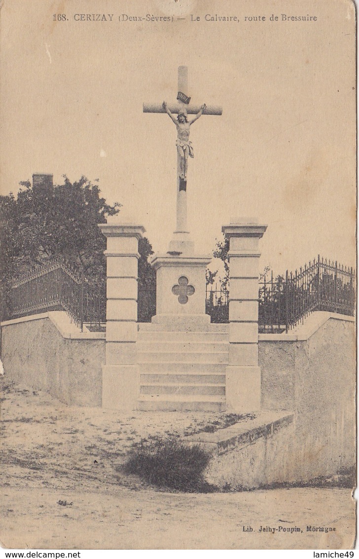
{"label": "entire spiked iron railing on both sides of the cross pedestal", "polygon": [[[205,312],[213,323],[228,323],[229,293],[221,284],[206,288]],[[287,331],[310,312],[355,314],[356,274],[330,260],[313,260],[285,276],[265,276],[259,282],[260,332]],[[12,281],[12,318],[41,311],[64,310],[81,329],[100,330],[106,323],[106,281],[90,285],[82,269],[61,261],[21,274]],[[155,286],[138,286],[138,322],[156,314]]]}

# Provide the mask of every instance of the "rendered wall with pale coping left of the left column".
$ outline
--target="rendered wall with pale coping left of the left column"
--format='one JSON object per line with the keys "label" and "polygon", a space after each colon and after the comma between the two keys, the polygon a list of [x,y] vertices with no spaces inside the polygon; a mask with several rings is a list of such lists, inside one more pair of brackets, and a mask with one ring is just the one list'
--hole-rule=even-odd
{"label": "rendered wall with pale coping left of the left column", "polygon": [[67,335],[61,333],[65,326],[56,327],[56,313],[51,315],[2,323],[6,377],[46,390],[69,405],[100,406],[105,340],[92,333],[76,333],[75,328]]}

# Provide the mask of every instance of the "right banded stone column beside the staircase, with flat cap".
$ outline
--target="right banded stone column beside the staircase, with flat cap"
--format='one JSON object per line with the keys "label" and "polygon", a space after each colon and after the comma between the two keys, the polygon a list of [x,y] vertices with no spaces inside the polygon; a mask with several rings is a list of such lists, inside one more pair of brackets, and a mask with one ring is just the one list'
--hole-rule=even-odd
{"label": "right banded stone column beside the staircase, with flat cap", "polygon": [[222,227],[225,238],[229,239],[226,403],[227,410],[235,413],[261,409],[261,369],[258,366],[259,239],[267,226],[253,221],[236,219]]}

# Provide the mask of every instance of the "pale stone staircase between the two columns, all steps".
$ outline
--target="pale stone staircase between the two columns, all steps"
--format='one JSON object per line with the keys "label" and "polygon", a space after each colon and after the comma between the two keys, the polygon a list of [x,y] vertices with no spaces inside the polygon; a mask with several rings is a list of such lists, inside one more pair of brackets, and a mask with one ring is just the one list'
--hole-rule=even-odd
{"label": "pale stone staircase between the two columns, all steps", "polygon": [[226,409],[228,324],[206,331],[166,331],[139,324],[139,410],[222,411]]}

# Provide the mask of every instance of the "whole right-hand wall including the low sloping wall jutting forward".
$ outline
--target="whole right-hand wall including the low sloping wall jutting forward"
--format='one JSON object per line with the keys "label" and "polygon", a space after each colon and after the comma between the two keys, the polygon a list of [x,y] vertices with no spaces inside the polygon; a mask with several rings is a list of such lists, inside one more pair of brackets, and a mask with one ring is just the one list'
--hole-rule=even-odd
{"label": "whole right-hand wall including the low sloping wall jutting forward", "polygon": [[260,335],[259,364],[261,414],[216,433],[186,438],[212,453],[207,481],[254,489],[300,484],[353,468],[353,319],[314,313],[293,333]]}

